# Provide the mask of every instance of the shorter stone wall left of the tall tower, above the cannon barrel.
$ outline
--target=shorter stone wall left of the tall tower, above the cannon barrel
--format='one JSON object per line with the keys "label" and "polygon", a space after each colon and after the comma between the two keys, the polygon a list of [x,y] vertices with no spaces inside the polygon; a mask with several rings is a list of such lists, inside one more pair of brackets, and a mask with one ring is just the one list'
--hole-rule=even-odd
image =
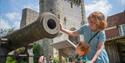
{"label": "shorter stone wall left of the tall tower, above the cannon barrel", "polygon": [[26,25],[31,24],[38,18],[38,16],[39,16],[39,13],[32,9],[29,9],[29,8],[23,9],[20,28],[23,28]]}

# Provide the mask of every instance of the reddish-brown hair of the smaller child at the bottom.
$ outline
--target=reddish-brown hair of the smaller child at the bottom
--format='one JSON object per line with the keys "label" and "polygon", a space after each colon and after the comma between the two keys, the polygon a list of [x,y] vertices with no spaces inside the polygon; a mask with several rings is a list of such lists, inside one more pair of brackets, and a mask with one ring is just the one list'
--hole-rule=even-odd
{"label": "reddish-brown hair of the smaller child at the bottom", "polygon": [[90,46],[89,44],[83,42],[83,41],[80,41],[78,44],[77,44],[77,48],[80,48],[81,51],[84,51],[85,53],[88,53],[89,50],[90,50]]}

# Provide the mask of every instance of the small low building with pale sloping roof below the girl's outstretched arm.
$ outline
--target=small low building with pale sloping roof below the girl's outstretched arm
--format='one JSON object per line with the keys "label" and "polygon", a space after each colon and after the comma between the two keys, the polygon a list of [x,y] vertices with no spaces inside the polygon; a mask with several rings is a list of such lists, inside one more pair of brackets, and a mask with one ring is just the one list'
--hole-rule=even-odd
{"label": "small low building with pale sloping roof below the girl's outstretched arm", "polygon": [[70,40],[63,40],[57,43],[52,44],[54,48],[59,50],[59,53],[62,56],[71,56],[75,54],[76,45],[73,44]]}

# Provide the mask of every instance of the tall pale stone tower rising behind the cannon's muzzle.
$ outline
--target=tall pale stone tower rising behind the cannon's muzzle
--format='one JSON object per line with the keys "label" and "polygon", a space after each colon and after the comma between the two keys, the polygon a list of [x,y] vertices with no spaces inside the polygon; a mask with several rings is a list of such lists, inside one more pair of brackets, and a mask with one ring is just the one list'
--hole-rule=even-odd
{"label": "tall pale stone tower rising behind the cannon's muzzle", "polygon": [[[39,14],[42,14],[43,12],[51,12],[55,14],[59,18],[60,23],[67,29],[78,29],[81,26],[81,23],[83,23],[82,17],[85,17],[84,6],[81,10],[81,6],[71,5],[68,0],[39,0],[39,5]],[[83,13],[83,16],[81,13]],[[58,52],[56,49],[52,50],[53,46],[51,44],[59,43],[67,39],[69,39],[68,35],[63,33],[60,33],[54,39],[43,39],[43,43],[46,44],[44,45],[45,49],[48,49],[46,52],[51,51],[51,53],[45,52],[45,55],[47,56],[50,54],[55,56]]]}

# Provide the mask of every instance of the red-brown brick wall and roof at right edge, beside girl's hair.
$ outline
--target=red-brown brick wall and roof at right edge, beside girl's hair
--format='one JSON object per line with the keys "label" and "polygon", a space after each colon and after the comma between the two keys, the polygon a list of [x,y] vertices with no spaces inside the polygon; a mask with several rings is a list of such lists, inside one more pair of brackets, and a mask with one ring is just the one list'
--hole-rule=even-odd
{"label": "red-brown brick wall and roof at right edge, beside girl's hair", "polygon": [[[107,39],[122,36],[125,31],[125,11],[109,16],[107,18],[108,30],[106,30]],[[123,26],[121,26],[123,25]]]}

